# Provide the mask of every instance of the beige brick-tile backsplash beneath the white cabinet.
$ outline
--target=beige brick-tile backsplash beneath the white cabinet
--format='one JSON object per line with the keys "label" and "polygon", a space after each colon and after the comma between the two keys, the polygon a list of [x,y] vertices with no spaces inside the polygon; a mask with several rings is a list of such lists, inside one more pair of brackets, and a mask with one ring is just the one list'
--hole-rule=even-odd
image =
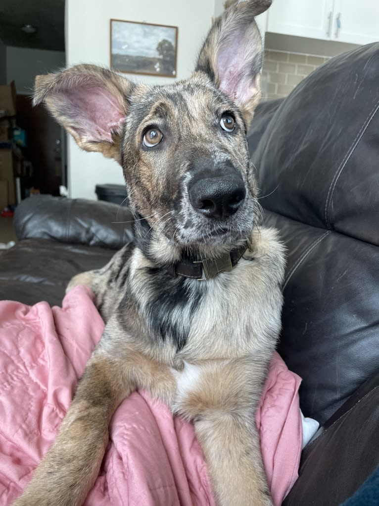
{"label": "beige brick-tile backsplash beneath the white cabinet", "polygon": [[286,97],[304,77],[329,59],[328,56],[265,50],[262,100]]}

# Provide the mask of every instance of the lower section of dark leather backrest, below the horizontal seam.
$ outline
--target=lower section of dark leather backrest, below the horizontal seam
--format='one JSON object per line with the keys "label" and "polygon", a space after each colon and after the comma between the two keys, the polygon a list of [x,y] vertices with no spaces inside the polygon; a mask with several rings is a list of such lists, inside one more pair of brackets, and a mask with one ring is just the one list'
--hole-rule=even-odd
{"label": "lower section of dark leather backrest, below the horizontal seam", "polygon": [[288,248],[278,351],[323,424],[379,367],[377,246],[265,210]]}

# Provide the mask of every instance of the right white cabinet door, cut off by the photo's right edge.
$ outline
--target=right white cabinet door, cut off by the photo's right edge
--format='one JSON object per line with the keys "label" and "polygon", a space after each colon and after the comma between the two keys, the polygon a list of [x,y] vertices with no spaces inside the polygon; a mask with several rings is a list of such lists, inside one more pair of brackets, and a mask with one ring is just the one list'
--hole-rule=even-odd
{"label": "right white cabinet door, cut off by the photo's right edge", "polygon": [[[379,3],[375,0],[335,0],[332,40],[369,44],[379,40]],[[341,28],[337,30],[337,17]]]}

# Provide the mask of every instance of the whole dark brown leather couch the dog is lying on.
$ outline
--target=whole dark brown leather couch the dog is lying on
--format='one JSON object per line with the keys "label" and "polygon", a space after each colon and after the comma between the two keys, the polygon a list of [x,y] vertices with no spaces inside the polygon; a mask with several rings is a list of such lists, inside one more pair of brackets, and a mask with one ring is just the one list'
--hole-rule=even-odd
{"label": "whole dark brown leather couch the dog is lying on", "polygon": [[[262,103],[249,146],[265,224],[288,248],[278,351],[321,424],[283,504],[338,506],[379,464],[379,44]],[[0,298],[60,304],[74,274],[130,239],[130,220],[106,202],[23,201],[19,242],[0,252]]]}

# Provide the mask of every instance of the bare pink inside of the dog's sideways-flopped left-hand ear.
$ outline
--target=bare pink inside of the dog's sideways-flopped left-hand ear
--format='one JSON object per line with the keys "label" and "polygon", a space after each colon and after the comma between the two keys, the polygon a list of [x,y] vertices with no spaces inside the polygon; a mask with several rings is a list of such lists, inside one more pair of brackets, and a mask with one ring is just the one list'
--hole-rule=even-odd
{"label": "bare pink inside of the dog's sideways-flopped left-hand ear", "polygon": [[125,121],[117,99],[101,86],[81,86],[62,92],[63,114],[74,120],[83,141],[112,142],[112,132]]}

